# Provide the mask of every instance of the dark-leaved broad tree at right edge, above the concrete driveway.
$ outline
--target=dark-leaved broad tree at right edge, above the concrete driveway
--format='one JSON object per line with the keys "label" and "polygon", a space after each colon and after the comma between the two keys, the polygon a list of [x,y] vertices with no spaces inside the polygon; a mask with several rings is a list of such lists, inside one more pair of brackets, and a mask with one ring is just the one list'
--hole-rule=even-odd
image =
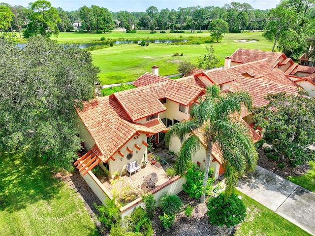
{"label": "dark-leaved broad tree at right edge, above the concrete driveway", "polygon": [[273,148],[296,165],[315,160],[315,99],[300,90],[297,96],[285,93],[268,94],[269,104],[253,109],[255,124],[265,129]]}

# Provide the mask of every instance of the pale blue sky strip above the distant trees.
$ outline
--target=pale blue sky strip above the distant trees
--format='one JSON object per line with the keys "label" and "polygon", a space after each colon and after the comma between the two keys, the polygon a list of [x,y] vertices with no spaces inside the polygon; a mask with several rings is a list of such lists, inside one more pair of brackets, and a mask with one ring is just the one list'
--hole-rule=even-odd
{"label": "pale blue sky strip above the distant trees", "polygon": [[[0,0],[0,2],[8,3],[12,6],[22,5],[27,7],[29,2],[35,0]],[[158,10],[168,8],[169,10],[178,7],[189,6],[223,6],[225,3],[232,1],[246,2],[252,5],[254,9],[271,9],[275,8],[279,4],[280,0],[48,0],[53,7],[61,7],[65,11],[78,10],[81,6],[97,5],[105,7],[109,11],[118,12],[120,10],[126,10],[129,12],[141,12],[148,9],[150,6],[156,6]]]}

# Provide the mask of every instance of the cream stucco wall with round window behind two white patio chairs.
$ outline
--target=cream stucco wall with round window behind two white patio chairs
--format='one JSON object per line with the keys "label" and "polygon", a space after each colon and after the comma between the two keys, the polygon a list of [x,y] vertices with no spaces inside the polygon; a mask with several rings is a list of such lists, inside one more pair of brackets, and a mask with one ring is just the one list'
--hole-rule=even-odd
{"label": "cream stucco wall with round window behind two white patio chairs", "polygon": [[[141,165],[141,163],[144,161],[144,154],[145,154],[145,161],[147,161],[147,147],[142,143],[142,141],[147,141],[147,136],[145,134],[134,135],[122,148],[120,148],[120,151],[124,154],[124,157],[118,154],[118,152],[114,155],[114,158],[116,159],[113,161],[110,159],[108,161],[109,166],[109,173],[114,177],[113,173],[115,171],[121,173],[123,169],[126,169],[126,165],[130,162],[137,161],[138,165]],[[138,150],[134,144],[137,144],[139,147],[141,147],[140,150]],[[127,147],[132,150],[132,158],[130,160],[127,160],[127,154],[129,153],[127,151]]]}

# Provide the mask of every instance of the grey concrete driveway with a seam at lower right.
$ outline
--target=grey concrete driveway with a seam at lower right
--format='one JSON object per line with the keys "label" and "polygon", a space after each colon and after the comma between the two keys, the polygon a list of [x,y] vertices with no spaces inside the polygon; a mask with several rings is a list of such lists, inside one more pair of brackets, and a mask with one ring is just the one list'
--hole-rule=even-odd
{"label": "grey concrete driveway with a seam at lower right", "polygon": [[259,166],[239,180],[237,189],[315,235],[315,193]]}

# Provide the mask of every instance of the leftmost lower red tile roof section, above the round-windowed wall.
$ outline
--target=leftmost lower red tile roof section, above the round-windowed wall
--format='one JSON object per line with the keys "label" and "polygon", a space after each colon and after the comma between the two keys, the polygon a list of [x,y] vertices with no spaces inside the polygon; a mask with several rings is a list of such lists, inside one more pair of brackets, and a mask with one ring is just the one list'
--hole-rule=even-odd
{"label": "leftmost lower red tile roof section, above the round-windowed wall", "polygon": [[132,123],[120,104],[110,96],[85,103],[79,117],[98,147],[95,154],[107,162],[137,132],[155,134],[140,124]]}

